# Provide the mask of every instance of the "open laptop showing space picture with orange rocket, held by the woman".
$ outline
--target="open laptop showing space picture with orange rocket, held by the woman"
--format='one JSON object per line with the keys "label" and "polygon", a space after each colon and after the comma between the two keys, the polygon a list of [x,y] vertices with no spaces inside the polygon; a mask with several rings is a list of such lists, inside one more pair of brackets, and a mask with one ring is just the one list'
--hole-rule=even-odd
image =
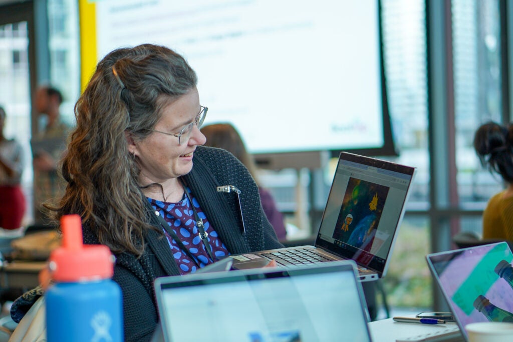
{"label": "open laptop showing space picture with orange rocket, held by the woman", "polygon": [[[342,152],[315,246],[230,255],[234,269],[352,259],[359,279],[385,275],[416,168]],[[291,261],[299,253],[307,256]]]}

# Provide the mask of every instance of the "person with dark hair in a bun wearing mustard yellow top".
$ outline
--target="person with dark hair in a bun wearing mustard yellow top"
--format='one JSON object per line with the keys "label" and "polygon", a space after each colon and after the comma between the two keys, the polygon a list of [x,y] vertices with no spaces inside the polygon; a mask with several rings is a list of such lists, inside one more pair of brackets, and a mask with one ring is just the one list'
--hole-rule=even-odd
{"label": "person with dark hair in a bun wearing mustard yellow top", "polygon": [[492,196],[483,212],[483,239],[513,241],[513,125],[481,125],[474,148],[484,167],[501,176],[506,188]]}

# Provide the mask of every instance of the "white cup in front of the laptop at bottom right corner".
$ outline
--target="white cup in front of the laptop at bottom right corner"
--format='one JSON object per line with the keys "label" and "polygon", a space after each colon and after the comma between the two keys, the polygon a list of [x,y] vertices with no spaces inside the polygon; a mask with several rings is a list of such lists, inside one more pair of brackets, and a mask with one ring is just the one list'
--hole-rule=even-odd
{"label": "white cup in front of the laptop at bottom right corner", "polygon": [[469,342],[513,341],[513,323],[478,322],[465,326]]}

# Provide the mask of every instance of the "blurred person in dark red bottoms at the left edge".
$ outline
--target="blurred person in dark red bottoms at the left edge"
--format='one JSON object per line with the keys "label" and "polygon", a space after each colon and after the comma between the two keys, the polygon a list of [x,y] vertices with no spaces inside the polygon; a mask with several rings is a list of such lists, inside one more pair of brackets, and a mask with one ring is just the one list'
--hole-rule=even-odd
{"label": "blurred person in dark red bottoms at the left edge", "polygon": [[0,107],[0,227],[22,227],[27,207],[22,190],[23,149],[16,139],[4,135],[6,113]]}

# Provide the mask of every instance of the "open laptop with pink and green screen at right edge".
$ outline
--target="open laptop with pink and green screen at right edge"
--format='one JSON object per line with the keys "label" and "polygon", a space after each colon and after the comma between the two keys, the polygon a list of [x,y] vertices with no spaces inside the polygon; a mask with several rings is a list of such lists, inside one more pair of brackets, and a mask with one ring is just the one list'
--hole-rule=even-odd
{"label": "open laptop with pink and green screen at right edge", "polygon": [[[513,254],[507,243],[432,253],[426,259],[466,340],[469,323],[513,321],[513,284],[506,280]],[[498,308],[491,315],[489,305]]]}

